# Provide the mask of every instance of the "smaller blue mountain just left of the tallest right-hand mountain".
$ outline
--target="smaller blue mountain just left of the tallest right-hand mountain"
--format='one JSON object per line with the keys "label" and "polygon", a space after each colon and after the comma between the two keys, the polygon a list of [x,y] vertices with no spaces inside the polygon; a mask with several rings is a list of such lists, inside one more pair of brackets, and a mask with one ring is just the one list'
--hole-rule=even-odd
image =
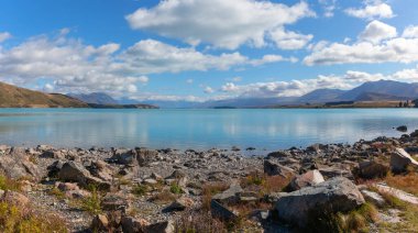
{"label": "smaller blue mountain just left of the tallest right-hand mountain", "polygon": [[300,103],[323,103],[337,101],[346,91],[340,89],[317,89],[297,99]]}

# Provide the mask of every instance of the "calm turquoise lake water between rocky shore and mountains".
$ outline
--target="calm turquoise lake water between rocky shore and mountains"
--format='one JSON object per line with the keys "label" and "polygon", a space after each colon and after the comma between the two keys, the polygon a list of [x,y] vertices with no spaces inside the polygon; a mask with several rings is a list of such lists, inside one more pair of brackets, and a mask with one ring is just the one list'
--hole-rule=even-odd
{"label": "calm turquoise lake water between rocky shore and mountains", "polygon": [[418,129],[418,109],[0,109],[0,144],[277,149],[353,143]]}

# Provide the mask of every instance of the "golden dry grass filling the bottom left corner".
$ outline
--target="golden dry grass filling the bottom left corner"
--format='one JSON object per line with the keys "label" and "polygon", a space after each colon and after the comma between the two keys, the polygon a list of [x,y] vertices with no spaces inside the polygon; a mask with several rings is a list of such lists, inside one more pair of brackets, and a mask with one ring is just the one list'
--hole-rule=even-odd
{"label": "golden dry grass filling the bottom left corner", "polygon": [[31,209],[20,209],[11,203],[0,202],[0,232],[67,232],[62,219],[35,212]]}

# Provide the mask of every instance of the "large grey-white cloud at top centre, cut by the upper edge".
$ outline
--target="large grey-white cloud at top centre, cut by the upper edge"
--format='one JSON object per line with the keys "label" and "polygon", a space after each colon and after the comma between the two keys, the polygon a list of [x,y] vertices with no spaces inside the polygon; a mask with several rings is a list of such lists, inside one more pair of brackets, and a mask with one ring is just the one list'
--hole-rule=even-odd
{"label": "large grey-white cloud at top centre, cut by the upper edge", "polygon": [[132,29],[235,49],[242,44],[261,47],[268,32],[315,13],[301,1],[292,7],[256,0],[166,0],[127,15]]}

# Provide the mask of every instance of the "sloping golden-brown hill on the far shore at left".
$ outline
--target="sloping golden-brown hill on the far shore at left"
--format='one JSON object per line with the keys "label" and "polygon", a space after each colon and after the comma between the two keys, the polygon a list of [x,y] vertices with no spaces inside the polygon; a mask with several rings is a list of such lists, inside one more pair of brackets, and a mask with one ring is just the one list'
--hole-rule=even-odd
{"label": "sloping golden-brown hill on the far shore at left", "polygon": [[61,93],[43,93],[0,82],[0,108],[88,108]]}

